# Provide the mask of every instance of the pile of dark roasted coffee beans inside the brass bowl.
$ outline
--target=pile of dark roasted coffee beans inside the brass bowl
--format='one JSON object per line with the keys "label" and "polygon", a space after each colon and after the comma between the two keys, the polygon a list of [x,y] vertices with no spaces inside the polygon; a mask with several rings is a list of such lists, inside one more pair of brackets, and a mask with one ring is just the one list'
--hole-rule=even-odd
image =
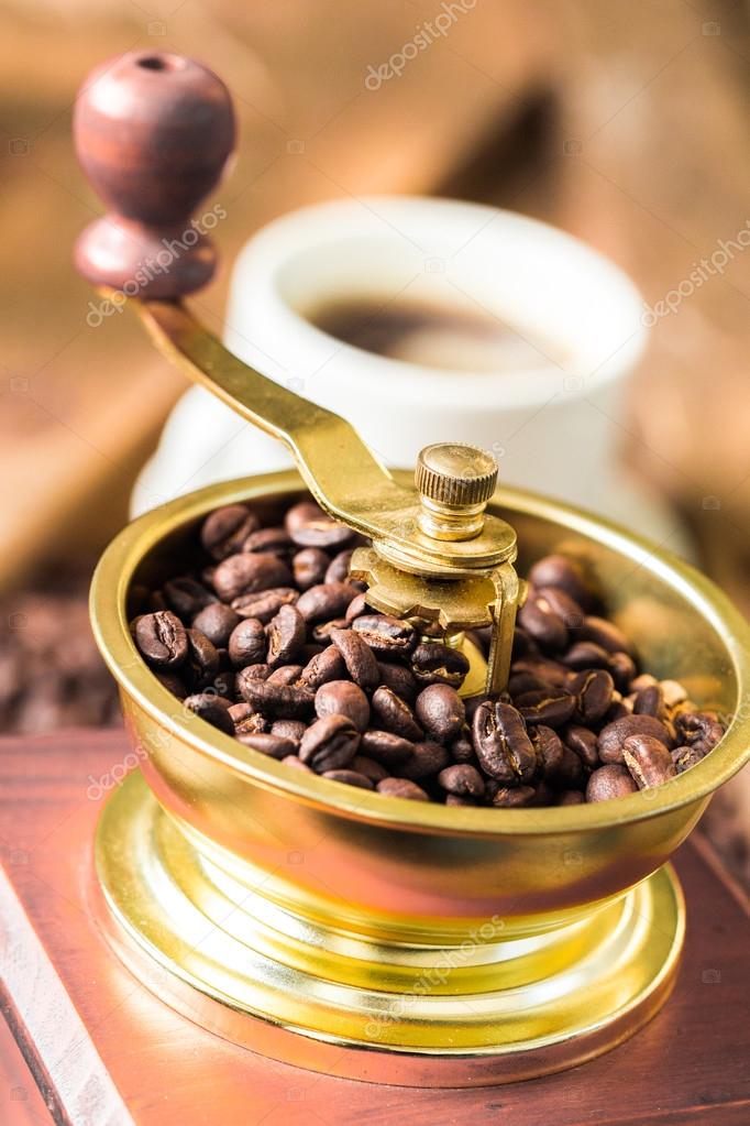
{"label": "pile of dark roasted coffee beans inside the brass bowl", "polygon": [[[510,808],[658,786],[723,734],[675,680],[638,668],[578,564],[528,574],[507,691],[463,698],[469,663],[350,581],[364,540],[311,501],[263,526],[211,512],[201,558],[150,593],[135,644],[186,708],[297,770],[392,797]],[[473,636],[485,651],[485,632]]]}

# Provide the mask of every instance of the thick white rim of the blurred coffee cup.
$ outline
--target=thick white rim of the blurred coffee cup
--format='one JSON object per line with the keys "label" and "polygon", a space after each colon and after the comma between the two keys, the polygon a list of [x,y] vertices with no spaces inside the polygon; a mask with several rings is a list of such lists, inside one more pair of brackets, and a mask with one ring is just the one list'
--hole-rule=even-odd
{"label": "thick white rim of the blurred coffee cup", "polygon": [[[437,397],[442,401],[445,397],[455,405],[455,381],[460,379],[464,401],[480,395],[485,404],[489,399],[490,403],[497,403],[498,409],[534,406],[560,393],[564,375],[581,375],[578,370],[567,373],[562,368],[555,369],[552,363],[541,363],[522,372],[504,370],[500,379],[496,373],[480,369],[432,367],[380,356],[317,328],[281,292],[281,271],[287,270],[304,252],[316,249],[324,253],[326,244],[340,243],[344,238],[342,227],[352,216],[359,215],[362,230],[372,232],[378,220],[382,218],[390,226],[391,218],[410,213],[421,220],[430,214],[436,229],[444,230],[471,215],[476,218],[478,233],[498,224],[498,240],[501,240],[503,231],[534,242],[543,240],[548,262],[559,260],[562,263],[571,259],[569,285],[580,285],[585,274],[588,298],[600,300],[602,295],[606,295],[611,305],[618,303],[623,322],[632,318],[635,325],[626,339],[613,346],[611,352],[607,350],[597,368],[582,373],[584,379],[596,379],[597,387],[603,386],[621,378],[640,360],[648,336],[638,315],[643,298],[627,274],[604,253],[576,235],[527,215],[468,200],[428,196],[383,195],[327,200],[288,212],[261,227],[236,258],[227,318],[228,338],[232,340],[236,336],[240,341],[245,339],[243,332],[246,330],[240,323],[240,312],[245,301],[252,302],[254,332],[249,343],[257,349],[257,355],[253,355],[255,366],[271,378],[283,377],[274,376],[275,367],[288,375],[297,366],[288,363],[289,349],[293,346],[295,355],[307,357],[318,387],[325,385],[331,393],[334,386],[345,387],[353,365],[356,365],[358,384],[362,391],[381,387],[382,378],[388,376],[399,381],[399,399],[415,403],[428,394],[432,400]],[[587,320],[596,322],[595,309]],[[233,328],[235,324],[236,328]],[[261,334],[268,332],[268,338],[259,336],[259,331]],[[237,340],[232,342],[238,349]],[[332,346],[335,346],[333,354]]]}

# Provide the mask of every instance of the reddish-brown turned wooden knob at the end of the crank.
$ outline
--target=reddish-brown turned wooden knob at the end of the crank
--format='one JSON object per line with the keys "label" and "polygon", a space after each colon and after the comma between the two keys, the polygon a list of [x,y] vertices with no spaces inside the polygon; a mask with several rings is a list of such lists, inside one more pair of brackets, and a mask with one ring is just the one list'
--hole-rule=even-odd
{"label": "reddish-brown turned wooden knob at the end of the crank", "polygon": [[128,297],[173,298],[210,280],[207,231],[216,207],[192,218],[235,143],[235,117],[213,71],[168,51],[130,51],[98,66],[73,115],[79,161],[107,214],[83,231],[76,268]]}

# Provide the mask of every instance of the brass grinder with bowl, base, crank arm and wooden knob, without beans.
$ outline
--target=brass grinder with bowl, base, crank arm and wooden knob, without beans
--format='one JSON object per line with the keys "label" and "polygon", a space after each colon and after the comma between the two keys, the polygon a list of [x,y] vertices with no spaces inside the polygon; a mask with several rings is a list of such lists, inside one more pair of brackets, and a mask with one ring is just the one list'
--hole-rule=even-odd
{"label": "brass grinder with bowl, base, crank arm and wooden knob, without beans", "polygon": [[[748,629],[707,580],[638,537],[498,489],[481,449],[446,441],[421,453],[415,477],[390,472],[344,419],[225,349],[182,298],[213,272],[190,215],[234,134],[224,84],[170,53],[105,64],[75,109],[81,163],[110,207],[79,240],[79,269],[299,470],[179,498],[125,529],[97,570],[93,627],[142,762],[100,821],[101,923],[188,1017],[302,1066],[449,1087],[572,1065],[669,993],[684,906],[666,861],[748,758]],[[165,252],[169,268],[151,269]],[[209,511],[272,510],[305,488],[371,542],[351,564],[368,604],[463,649],[466,694],[507,682],[525,592],[516,552],[527,566],[564,551],[654,673],[733,717],[722,742],[689,772],[615,802],[478,810],[350,792],[209,727],[143,663],[128,622]],[[464,634],[479,627],[491,629],[487,660]]]}

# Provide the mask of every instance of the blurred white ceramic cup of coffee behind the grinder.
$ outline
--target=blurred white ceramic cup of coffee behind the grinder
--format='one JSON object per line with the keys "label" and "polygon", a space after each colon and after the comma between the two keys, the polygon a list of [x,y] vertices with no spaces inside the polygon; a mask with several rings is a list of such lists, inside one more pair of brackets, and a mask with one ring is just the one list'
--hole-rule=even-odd
{"label": "blurred white ceramic cup of coffee behind the grinder", "polygon": [[[510,359],[498,372],[472,370],[468,358],[452,369],[387,358],[310,323],[313,311],[342,300],[479,312],[531,347],[523,369]],[[674,520],[617,459],[642,310],[621,269],[548,224],[383,196],[305,207],[253,235],[234,267],[225,339],[264,375],[345,414],[387,464],[413,465],[432,441],[475,443],[495,453],[501,480],[663,540]],[[192,388],[133,507],[289,463],[279,443]]]}

